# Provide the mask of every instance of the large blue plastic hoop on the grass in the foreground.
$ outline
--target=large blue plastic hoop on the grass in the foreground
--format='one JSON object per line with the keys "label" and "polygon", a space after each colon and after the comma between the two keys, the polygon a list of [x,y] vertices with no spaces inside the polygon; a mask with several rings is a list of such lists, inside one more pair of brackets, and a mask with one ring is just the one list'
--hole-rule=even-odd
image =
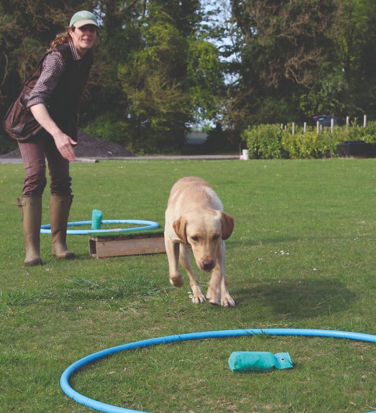
{"label": "large blue plastic hoop on the grass in the foreground", "polygon": [[[105,413],[147,413],[141,410],[132,410],[124,407],[117,407],[111,404],[102,403],[101,401],[89,398],[75,389],[73,389],[69,384],[69,378],[73,373],[75,373],[79,368],[92,363],[93,361],[99,360],[108,355],[115,354],[119,351],[131,350],[134,348],[149,347],[154,344],[165,344],[173,343],[176,341],[187,341],[187,340],[199,340],[203,338],[224,338],[224,337],[238,337],[244,335],[257,335],[257,334],[267,334],[267,335],[293,335],[293,336],[311,336],[311,337],[331,337],[331,338],[348,338],[350,340],[358,341],[369,341],[376,342],[376,335],[354,333],[349,331],[336,331],[336,330],[315,330],[315,329],[299,329],[299,328],[265,328],[265,329],[241,329],[241,330],[219,330],[219,331],[203,331],[197,333],[188,334],[178,334],[178,335],[168,335],[165,337],[150,338],[148,340],[134,341],[128,344],[118,345],[116,347],[107,348],[106,350],[101,350],[96,353],[90,354],[75,363],[71,364],[60,377],[60,386],[64,393],[73,398],[84,406],[91,407],[95,410],[103,411]],[[376,413],[375,411],[369,411],[368,413]]]}

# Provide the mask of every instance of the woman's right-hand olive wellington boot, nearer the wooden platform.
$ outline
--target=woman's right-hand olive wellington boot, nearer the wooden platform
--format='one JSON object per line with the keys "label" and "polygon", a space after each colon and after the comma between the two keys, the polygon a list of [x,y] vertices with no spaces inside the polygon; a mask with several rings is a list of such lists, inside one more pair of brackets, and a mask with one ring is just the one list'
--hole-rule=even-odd
{"label": "woman's right-hand olive wellington boot, nearer the wooden platform", "polygon": [[52,255],[57,258],[74,258],[74,253],[68,250],[67,224],[73,195],[50,196],[50,223],[52,239]]}

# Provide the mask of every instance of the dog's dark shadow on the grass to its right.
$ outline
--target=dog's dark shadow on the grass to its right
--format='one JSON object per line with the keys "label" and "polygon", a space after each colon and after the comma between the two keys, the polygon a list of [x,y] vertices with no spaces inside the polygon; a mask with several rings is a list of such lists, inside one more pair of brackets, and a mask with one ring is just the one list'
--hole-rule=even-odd
{"label": "dog's dark shadow on the grass to its right", "polygon": [[347,309],[356,294],[336,278],[324,280],[265,280],[254,287],[232,291],[240,305],[257,302],[290,318],[327,315]]}

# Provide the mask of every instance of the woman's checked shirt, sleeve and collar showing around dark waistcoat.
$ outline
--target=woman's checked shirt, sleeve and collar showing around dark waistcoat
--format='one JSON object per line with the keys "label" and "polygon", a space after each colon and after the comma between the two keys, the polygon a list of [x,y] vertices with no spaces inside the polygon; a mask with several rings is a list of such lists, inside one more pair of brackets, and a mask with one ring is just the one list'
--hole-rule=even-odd
{"label": "woman's checked shirt, sleeve and collar showing around dark waistcoat", "polygon": [[[69,47],[73,55],[73,60],[80,60],[81,57],[78,54],[73,41],[69,42]],[[87,53],[93,54],[92,49],[89,49]],[[66,65],[67,63],[60,52],[53,51],[46,56],[42,63],[41,76],[30,93],[27,103],[28,108],[40,103],[47,106],[48,98],[59,83],[60,76],[63,74]]]}

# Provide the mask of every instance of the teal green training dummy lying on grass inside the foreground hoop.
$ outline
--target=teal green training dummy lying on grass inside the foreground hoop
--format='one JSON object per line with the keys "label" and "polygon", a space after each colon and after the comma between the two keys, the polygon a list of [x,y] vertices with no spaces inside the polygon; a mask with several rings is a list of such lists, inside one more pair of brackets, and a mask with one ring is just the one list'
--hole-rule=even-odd
{"label": "teal green training dummy lying on grass inside the foreground hoop", "polygon": [[268,351],[233,351],[229,366],[234,372],[272,371],[293,367],[289,353],[273,354]]}

